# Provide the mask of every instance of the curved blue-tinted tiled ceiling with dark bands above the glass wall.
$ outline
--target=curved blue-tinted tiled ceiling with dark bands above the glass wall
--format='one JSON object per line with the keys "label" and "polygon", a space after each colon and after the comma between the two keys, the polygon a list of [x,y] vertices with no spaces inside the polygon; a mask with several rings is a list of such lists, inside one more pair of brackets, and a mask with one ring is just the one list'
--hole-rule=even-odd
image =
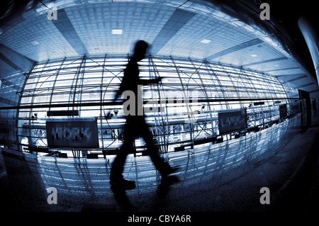
{"label": "curved blue-tinted tiled ceiling with dark bands above the glass wall", "polygon": [[[136,40],[145,40],[152,45],[152,55],[242,66],[318,94],[313,75],[272,35],[205,1],[54,3],[57,20],[50,20],[50,1],[30,1],[30,10],[11,21],[11,26],[1,26],[1,45],[43,62],[82,55],[128,55]],[[14,64],[4,54],[0,60]]]}

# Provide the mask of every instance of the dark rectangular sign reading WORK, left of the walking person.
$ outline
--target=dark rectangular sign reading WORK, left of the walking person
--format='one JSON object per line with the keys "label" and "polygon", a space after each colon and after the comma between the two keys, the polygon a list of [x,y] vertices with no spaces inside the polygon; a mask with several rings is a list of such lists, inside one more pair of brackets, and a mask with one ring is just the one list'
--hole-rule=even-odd
{"label": "dark rectangular sign reading WORK, left of the walking person", "polygon": [[99,147],[95,118],[49,119],[46,129],[49,147]]}

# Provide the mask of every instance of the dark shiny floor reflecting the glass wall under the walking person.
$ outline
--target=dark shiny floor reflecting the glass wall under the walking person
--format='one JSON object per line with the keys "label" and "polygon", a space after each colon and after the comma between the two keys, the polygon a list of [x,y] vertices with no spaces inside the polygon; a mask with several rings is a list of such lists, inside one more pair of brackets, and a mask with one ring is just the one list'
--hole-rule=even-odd
{"label": "dark shiny floor reflecting the glass wall under the walking person", "polygon": [[[109,159],[39,157],[34,161],[0,152],[3,211],[272,212],[318,208],[319,117],[303,115],[244,137],[168,154],[179,182],[159,186],[148,157],[128,157],[125,179],[133,190],[113,192]],[[49,205],[47,188],[57,189]],[[269,188],[270,204],[260,203]]]}

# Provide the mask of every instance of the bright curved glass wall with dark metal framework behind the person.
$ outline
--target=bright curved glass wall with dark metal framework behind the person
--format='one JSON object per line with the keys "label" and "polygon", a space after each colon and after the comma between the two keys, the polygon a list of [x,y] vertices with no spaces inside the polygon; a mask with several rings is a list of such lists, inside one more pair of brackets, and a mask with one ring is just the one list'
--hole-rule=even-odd
{"label": "bright curved glass wall with dark metal framework behind the person", "polygon": [[[47,111],[77,110],[71,118],[94,117],[98,122],[96,154],[114,153],[122,144],[123,106],[113,103],[128,56],[80,57],[38,63],[28,74],[18,112],[21,150],[47,148]],[[218,113],[247,112],[247,128],[263,127],[279,120],[279,106],[291,106],[298,91],[267,74],[230,65],[148,56],[140,62],[140,78],[162,77],[160,84],[142,86],[144,111],[150,130],[162,152],[193,147],[196,140],[223,136]],[[122,101],[125,101],[123,99]],[[111,118],[105,116],[111,113]],[[224,135],[231,139],[240,131]],[[142,139],[135,140],[138,153]],[[50,149],[72,153],[75,149]],[[80,154],[82,156],[82,154]]]}

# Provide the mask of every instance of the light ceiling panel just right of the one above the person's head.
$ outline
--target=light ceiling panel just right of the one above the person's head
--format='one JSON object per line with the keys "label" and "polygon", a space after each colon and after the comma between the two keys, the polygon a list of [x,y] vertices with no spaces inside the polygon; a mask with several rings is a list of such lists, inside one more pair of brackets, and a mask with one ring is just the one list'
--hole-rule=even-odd
{"label": "light ceiling panel just right of the one above the person's head", "polygon": [[[254,35],[216,18],[196,14],[158,54],[203,59],[254,38]],[[211,42],[201,43],[204,39]]]}

